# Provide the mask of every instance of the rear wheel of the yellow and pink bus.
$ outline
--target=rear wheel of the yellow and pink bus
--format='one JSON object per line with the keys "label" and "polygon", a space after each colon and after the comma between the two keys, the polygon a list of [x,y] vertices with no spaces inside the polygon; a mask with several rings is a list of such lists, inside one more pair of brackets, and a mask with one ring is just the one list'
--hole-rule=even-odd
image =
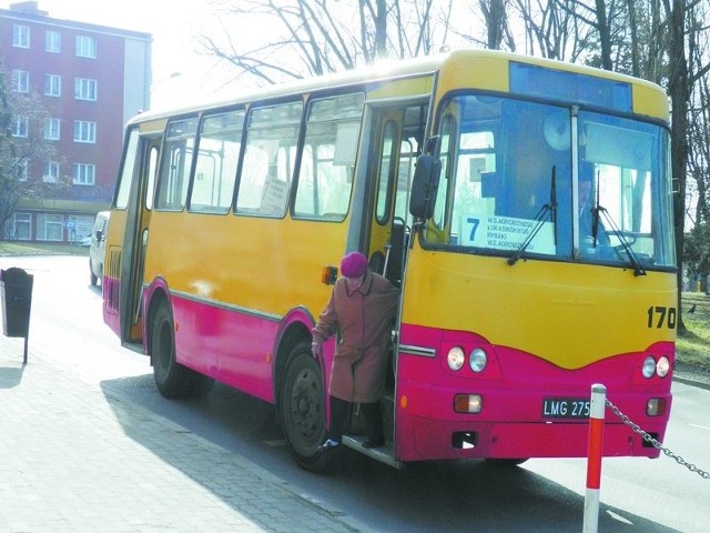
{"label": "rear wheel of the yellow and pink bus", "polygon": [[165,398],[202,396],[210,392],[214,381],[175,361],[173,319],[168,305],[155,312],[151,330],[151,356],[153,378],[158,390]]}

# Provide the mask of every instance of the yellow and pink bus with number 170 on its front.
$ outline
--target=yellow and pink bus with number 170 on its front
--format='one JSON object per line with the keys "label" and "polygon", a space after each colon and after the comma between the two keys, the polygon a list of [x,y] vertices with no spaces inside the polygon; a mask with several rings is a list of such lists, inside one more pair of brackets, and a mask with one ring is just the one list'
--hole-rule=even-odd
{"label": "yellow and pink bus with number 170 on its front", "polygon": [[[662,440],[677,286],[661,88],[458,50],[132,119],[103,315],[160,392],[274,404],[321,470],[334,342],[311,328],[345,252],[400,288],[383,402],[407,462],[577,457],[592,383]],[[609,415],[605,455],[656,457]]]}

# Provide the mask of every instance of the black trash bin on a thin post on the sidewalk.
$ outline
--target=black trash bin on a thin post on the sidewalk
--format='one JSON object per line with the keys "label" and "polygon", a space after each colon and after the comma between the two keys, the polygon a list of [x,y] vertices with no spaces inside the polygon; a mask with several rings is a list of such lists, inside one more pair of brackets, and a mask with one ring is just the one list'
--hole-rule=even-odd
{"label": "black trash bin on a thin post on the sidewalk", "polygon": [[32,308],[31,274],[18,268],[0,270],[0,300],[2,303],[2,333],[6,336],[24,338],[24,362],[27,363],[27,338],[30,331]]}

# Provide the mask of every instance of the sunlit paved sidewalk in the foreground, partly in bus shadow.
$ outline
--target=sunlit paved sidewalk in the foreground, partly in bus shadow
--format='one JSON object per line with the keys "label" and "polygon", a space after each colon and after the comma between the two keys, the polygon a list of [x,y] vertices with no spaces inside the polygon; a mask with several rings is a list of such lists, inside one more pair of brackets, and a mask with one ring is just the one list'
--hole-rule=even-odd
{"label": "sunlit paved sidewalk in the foreground, partly in bus shadow", "polygon": [[358,532],[234,453],[0,335],[0,531]]}

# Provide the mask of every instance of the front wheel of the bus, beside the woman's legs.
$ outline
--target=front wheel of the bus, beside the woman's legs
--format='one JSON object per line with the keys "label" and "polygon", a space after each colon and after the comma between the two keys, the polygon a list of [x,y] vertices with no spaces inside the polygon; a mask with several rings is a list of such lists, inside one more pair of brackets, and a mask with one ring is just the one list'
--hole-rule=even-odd
{"label": "front wheel of the bus, beside the woman's legs", "polygon": [[326,470],[332,455],[317,451],[325,439],[325,392],[321,375],[311,345],[296,345],[284,372],[280,408],[291,454],[300,466],[311,472]]}

